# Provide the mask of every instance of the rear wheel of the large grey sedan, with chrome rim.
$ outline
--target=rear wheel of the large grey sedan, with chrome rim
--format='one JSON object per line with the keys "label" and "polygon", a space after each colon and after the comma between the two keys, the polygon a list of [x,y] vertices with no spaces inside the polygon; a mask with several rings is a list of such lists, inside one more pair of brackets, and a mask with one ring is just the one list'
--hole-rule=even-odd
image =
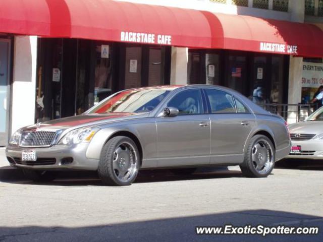
{"label": "rear wheel of the large grey sedan, with chrome rim", "polygon": [[255,135],[249,141],[244,161],[240,165],[247,177],[267,177],[275,166],[273,142],[264,135]]}

